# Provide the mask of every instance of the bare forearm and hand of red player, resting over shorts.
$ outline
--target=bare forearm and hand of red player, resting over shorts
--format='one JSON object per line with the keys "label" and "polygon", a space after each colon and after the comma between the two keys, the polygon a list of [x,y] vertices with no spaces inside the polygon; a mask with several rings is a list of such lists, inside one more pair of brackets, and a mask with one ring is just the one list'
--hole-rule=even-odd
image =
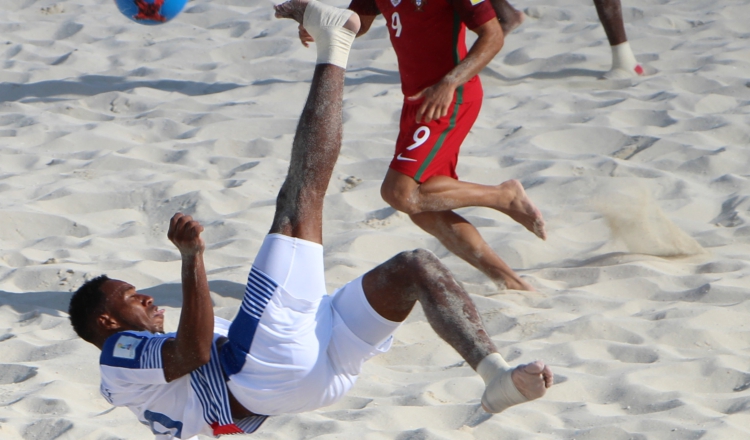
{"label": "bare forearm and hand of red player, resting over shorts", "polygon": [[417,110],[417,122],[430,122],[447,115],[456,89],[484,69],[503,48],[503,30],[497,20],[489,20],[473,31],[479,38],[471,46],[466,58],[437,84],[408,98],[424,98],[424,102]]}

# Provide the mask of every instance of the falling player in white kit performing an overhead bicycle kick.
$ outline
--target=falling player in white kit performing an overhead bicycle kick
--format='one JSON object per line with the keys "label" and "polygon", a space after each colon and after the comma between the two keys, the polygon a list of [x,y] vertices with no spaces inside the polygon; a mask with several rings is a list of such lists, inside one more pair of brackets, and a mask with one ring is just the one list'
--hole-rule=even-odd
{"label": "falling player in white kit performing an overhead bicycle kick", "polygon": [[127,282],[101,276],[71,298],[73,328],[102,351],[104,397],[131,409],[158,440],[253,432],[269,415],[343,397],[363,362],[388,350],[417,302],[435,332],[484,379],[485,410],[543,396],[553,382],[549,367],[510,367],[474,303],[428,251],[402,252],[327,295],[323,200],[341,149],[344,72],[360,22],[314,0],[276,10],[304,22],[318,60],[240,310],[231,323],[214,318],[203,227],[175,214],[168,237],[182,255],[183,289],[176,333],[163,334],[164,311]]}

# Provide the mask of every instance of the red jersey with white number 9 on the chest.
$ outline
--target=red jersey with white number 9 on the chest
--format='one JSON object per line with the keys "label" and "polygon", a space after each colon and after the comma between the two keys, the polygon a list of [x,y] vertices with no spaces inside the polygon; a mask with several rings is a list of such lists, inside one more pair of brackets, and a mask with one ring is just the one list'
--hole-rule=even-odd
{"label": "red jersey with white number 9 on the chest", "polygon": [[[436,84],[466,57],[467,26],[497,19],[490,0],[352,0],[349,9],[383,14],[405,97]],[[462,95],[462,101],[481,99],[478,76],[464,84]]]}

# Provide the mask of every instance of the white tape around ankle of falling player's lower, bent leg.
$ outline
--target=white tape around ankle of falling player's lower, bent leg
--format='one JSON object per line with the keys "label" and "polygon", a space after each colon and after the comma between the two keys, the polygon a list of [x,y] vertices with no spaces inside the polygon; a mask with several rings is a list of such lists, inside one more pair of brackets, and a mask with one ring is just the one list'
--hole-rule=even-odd
{"label": "white tape around ankle of falling player's lower, bent leg", "polygon": [[513,384],[513,370],[499,353],[487,356],[477,365],[477,373],[487,384],[482,396],[482,408],[485,411],[499,413],[513,405],[529,401]]}

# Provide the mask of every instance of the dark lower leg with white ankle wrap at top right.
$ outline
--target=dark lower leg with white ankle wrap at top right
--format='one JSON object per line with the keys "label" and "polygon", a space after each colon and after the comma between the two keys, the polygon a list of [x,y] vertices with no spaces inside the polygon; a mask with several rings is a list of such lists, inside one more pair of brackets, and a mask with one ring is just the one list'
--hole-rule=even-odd
{"label": "dark lower leg with white ankle wrap at top right", "polygon": [[643,67],[636,61],[625,34],[620,0],[594,0],[594,6],[612,49],[612,69],[604,76],[618,78],[643,75]]}

